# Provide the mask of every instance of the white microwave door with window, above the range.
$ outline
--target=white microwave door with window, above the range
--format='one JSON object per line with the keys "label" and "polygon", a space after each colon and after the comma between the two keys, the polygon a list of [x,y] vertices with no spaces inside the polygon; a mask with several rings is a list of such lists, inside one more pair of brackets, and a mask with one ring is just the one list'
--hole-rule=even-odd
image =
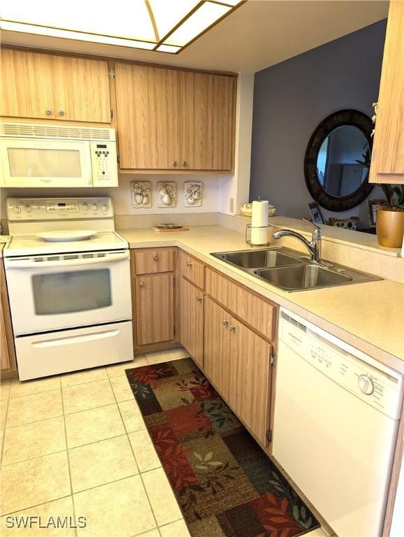
{"label": "white microwave door with window, above the range", "polygon": [[0,140],[3,187],[91,187],[89,141]]}

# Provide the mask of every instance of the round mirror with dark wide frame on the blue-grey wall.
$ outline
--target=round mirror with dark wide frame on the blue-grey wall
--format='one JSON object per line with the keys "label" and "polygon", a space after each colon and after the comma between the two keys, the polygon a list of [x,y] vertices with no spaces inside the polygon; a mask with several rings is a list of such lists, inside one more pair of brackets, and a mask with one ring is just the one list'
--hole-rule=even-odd
{"label": "round mirror with dark wide frame on the blue-grey wall", "polygon": [[372,152],[372,120],[358,110],[340,110],[313,132],[305,153],[305,181],[322,207],[347,210],[366,199]]}

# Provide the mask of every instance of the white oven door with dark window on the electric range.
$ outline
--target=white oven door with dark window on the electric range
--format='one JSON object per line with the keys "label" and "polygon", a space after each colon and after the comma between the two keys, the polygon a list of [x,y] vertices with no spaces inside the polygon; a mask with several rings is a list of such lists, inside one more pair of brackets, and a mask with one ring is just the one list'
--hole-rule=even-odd
{"label": "white oven door with dark window on the electric range", "polygon": [[4,259],[14,335],[130,320],[128,250]]}

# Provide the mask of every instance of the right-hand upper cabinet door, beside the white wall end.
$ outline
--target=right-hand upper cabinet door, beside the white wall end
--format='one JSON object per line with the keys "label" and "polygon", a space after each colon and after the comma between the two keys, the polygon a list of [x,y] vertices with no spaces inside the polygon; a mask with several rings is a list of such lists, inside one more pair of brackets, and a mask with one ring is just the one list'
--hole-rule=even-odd
{"label": "right-hand upper cabinet door, beside the white wall end", "polygon": [[235,79],[187,71],[178,76],[181,168],[231,170]]}

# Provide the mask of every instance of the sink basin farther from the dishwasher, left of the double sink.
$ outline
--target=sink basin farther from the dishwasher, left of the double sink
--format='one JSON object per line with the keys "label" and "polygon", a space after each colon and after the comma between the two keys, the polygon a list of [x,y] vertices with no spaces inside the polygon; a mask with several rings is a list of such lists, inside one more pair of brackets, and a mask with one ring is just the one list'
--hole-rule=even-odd
{"label": "sink basin farther from the dishwasher, left of the double sink", "polygon": [[217,254],[216,257],[241,268],[273,268],[303,264],[300,259],[284,255],[278,250],[247,250]]}

